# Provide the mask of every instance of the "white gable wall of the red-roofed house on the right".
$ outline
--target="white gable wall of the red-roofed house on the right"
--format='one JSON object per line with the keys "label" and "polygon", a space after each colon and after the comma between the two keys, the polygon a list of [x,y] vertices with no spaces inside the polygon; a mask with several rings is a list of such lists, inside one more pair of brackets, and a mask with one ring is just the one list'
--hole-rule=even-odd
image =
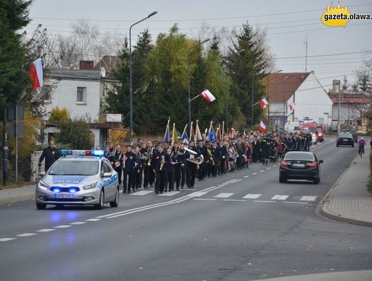
{"label": "white gable wall of the red-roofed house on the right", "polygon": [[[313,119],[318,124],[327,124],[327,115],[324,113],[332,114],[332,101],[324,92],[313,73],[296,90],[295,95],[295,121],[302,120],[305,117]],[[287,101],[287,104],[293,103],[293,95]],[[291,110],[289,110],[291,114]],[[292,115],[289,115],[290,121]]]}

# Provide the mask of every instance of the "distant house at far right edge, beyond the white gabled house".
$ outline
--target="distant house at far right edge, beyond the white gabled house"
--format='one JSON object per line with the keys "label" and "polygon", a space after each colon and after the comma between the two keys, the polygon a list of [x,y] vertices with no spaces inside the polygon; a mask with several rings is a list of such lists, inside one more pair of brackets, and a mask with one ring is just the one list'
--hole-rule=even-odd
{"label": "distant house at far right edge, beyond the white gabled house", "polygon": [[[329,97],[333,101],[331,130],[338,130],[338,119],[340,128],[365,128],[366,122],[362,120],[362,113],[371,104],[371,98],[366,93],[344,90],[340,88],[340,80],[333,80],[332,89],[329,89]],[[340,106],[340,117],[338,109]]]}

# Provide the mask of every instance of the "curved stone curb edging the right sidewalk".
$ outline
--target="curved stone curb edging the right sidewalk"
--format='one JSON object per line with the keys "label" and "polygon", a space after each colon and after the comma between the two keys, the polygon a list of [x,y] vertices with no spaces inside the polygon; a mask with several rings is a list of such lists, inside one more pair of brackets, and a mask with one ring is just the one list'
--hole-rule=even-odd
{"label": "curved stone curb edging the right sidewalk", "polygon": [[340,222],[347,222],[349,224],[357,224],[357,225],[361,225],[361,226],[370,226],[371,227],[372,222],[366,222],[364,220],[358,220],[358,219],[354,219],[354,218],[351,218],[351,217],[346,217],[344,215],[340,215],[340,214],[337,214],[337,213],[333,213],[333,212],[329,211],[329,208],[328,208],[328,206],[329,206],[329,200],[328,200],[329,194],[333,192],[333,190],[334,190],[334,188],[336,188],[336,186],[338,186],[338,183],[340,182],[342,177],[344,177],[345,173],[347,173],[347,171],[349,171],[349,169],[351,168],[351,165],[353,164],[353,162],[355,161],[355,159],[358,156],[359,155],[355,155],[355,157],[353,158],[353,160],[351,160],[351,163],[349,164],[347,169],[340,175],[338,180],[335,182],[335,184],[333,184],[333,186],[331,187],[331,189],[329,189],[329,191],[326,193],[326,195],[324,195],[322,200],[320,200],[319,205],[322,204],[322,206],[320,208],[320,213],[322,215],[324,215],[324,217],[328,217],[332,220],[338,220]]}

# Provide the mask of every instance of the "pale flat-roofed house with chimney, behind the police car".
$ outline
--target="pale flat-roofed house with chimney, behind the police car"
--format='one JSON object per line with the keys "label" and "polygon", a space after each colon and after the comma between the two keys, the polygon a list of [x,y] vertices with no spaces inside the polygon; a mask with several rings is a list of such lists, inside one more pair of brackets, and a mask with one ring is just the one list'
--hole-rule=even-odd
{"label": "pale flat-roofed house with chimney, behind the police car", "polygon": [[[80,61],[79,69],[49,70],[45,73],[45,84],[41,89],[48,113],[59,107],[66,108],[72,119],[85,118],[94,137],[94,146],[104,144],[107,130],[118,128],[119,125],[101,120],[107,90],[114,89],[114,84],[118,83],[112,75],[113,65],[110,64],[117,64],[114,58],[105,56],[96,66],[93,61]],[[56,133],[55,124],[47,126],[45,133],[48,138]]]}

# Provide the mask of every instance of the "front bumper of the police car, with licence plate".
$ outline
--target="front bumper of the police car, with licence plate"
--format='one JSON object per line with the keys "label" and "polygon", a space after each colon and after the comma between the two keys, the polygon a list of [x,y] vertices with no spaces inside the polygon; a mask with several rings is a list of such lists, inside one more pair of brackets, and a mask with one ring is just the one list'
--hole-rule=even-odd
{"label": "front bumper of the police car, with licence plate", "polygon": [[[37,186],[35,202],[51,205],[94,205],[99,204],[100,188],[77,191],[76,193],[55,193]],[[56,194],[73,194],[73,198],[56,198]],[[90,199],[90,200],[87,200]]]}

